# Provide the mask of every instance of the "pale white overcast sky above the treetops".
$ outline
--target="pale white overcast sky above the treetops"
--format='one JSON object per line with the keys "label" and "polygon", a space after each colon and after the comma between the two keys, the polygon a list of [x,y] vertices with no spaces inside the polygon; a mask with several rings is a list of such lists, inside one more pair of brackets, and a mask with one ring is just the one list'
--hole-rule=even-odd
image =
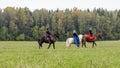
{"label": "pale white overcast sky above the treetops", "polygon": [[0,0],[0,8],[27,7],[30,10],[45,8],[48,10],[65,10],[74,7],[82,10],[103,8],[107,10],[119,10],[120,0]]}

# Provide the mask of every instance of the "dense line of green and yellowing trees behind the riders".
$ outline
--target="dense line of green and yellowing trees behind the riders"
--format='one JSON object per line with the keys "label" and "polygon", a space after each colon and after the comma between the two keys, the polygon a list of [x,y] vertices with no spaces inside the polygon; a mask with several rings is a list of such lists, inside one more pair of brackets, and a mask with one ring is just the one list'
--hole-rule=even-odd
{"label": "dense line of green and yellowing trees behind the riders", "polygon": [[60,40],[78,34],[88,33],[89,25],[93,33],[102,33],[103,40],[120,39],[120,10],[94,8],[81,10],[76,7],[65,10],[47,10],[6,7],[0,9],[0,40],[36,40],[45,35],[46,26],[54,34],[60,33]]}

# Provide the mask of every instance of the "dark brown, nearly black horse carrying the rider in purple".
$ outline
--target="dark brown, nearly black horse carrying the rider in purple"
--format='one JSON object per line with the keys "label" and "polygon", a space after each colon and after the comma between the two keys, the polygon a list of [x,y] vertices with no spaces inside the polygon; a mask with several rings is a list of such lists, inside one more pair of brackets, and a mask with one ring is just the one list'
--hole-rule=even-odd
{"label": "dark brown, nearly black horse carrying the rider in purple", "polygon": [[42,48],[42,44],[43,43],[48,43],[48,49],[50,48],[51,44],[53,44],[53,48],[55,49],[55,42],[56,39],[59,38],[59,33],[55,33],[53,35],[51,35],[51,40],[49,41],[49,39],[46,36],[43,36],[41,38],[38,39],[38,44],[39,44],[39,49]]}

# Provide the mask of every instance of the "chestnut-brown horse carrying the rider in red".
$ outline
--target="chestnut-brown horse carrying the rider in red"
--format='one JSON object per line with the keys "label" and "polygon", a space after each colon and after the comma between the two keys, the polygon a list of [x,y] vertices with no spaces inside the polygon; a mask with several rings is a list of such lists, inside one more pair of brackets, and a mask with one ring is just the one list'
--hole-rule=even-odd
{"label": "chestnut-brown horse carrying the rider in red", "polygon": [[91,42],[91,43],[93,43],[92,47],[94,47],[94,45],[97,46],[97,44],[96,44],[96,42],[95,42],[95,40],[96,40],[97,38],[102,38],[102,34],[101,34],[101,33],[94,34],[92,40],[88,39],[88,35],[87,35],[87,34],[83,35],[82,41],[81,41],[81,42],[82,42],[82,47],[83,47],[83,46],[86,47],[86,42]]}

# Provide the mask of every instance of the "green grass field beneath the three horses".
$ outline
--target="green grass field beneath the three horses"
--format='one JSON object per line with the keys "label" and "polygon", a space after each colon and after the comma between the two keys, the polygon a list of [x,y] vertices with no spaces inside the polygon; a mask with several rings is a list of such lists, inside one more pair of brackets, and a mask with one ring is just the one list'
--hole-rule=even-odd
{"label": "green grass field beneath the three horses", "polygon": [[97,41],[97,47],[65,47],[56,49],[37,41],[0,41],[0,68],[120,68],[120,41]]}

